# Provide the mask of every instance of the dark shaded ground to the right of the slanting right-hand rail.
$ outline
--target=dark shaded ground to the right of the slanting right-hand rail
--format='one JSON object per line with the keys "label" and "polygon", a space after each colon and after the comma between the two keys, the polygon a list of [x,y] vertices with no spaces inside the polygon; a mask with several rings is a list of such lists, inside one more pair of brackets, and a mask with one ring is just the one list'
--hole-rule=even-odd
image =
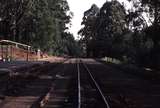
{"label": "dark shaded ground to the right of the slanting right-hand rail", "polygon": [[160,83],[96,62],[83,60],[92,71],[111,108],[159,108]]}

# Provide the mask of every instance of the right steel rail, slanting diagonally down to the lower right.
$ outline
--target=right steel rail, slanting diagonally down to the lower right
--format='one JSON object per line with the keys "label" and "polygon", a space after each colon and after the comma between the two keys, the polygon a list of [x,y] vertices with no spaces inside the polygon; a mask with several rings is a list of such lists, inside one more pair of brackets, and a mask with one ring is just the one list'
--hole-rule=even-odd
{"label": "right steel rail, slanting diagonally down to the lower right", "polygon": [[[81,61],[81,60],[80,60],[80,61]],[[82,62],[82,61],[81,61],[81,62]],[[100,93],[100,95],[101,95],[101,97],[102,97],[102,99],[103,99],[103,101],[104,101],[104,103],[105,103],[105,105],[106,105],[106,108],[110,108],[109,103],[108,103],[108,101],[106,100],[106,98],[105,98],[105,96],[104,96],[104,93],[102,92],[100,86],[98,85],[98,83],[96,82],[95,78],[93,77],[93,74],[91,73],[91,71],[89,70],[89,68],[87,67],[86,64],[84,64],[83,62],[82,62],[82,64],[83,64],[83,66],[86,68],[87,72],[89,73],[89,76],[91,77],[91,79],[92,79],[92,81],[94,82],[94,84],[95,84],[98,92]]]}

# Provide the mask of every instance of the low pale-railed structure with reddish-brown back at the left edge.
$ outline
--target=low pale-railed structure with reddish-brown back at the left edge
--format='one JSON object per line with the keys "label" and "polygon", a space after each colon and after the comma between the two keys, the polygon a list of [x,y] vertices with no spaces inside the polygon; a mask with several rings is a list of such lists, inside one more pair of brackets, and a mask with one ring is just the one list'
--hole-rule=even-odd
{"label": "low pale-railed structure with reddish-brown back at the left edge", "polygon": [[13,42],[10,40],[0,41],[0,59],[3,61],[11,60],[37,60],[37,53],[31,50],[31,46]]}

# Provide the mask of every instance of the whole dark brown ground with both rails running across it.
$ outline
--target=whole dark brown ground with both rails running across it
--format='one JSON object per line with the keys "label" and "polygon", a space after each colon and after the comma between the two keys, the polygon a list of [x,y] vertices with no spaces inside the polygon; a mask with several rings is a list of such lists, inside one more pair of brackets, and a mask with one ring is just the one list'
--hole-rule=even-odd
{"label": "whole dark brown ground with both rails running across it", "polygon": [[27,74],[18,74],[10,83],[18,92],[5,94],[4,101],[0,102],[1,108],[160,106],[158,82],[126,74],[93,59],[69,59],[58,66],[50,63],[35,66]]}

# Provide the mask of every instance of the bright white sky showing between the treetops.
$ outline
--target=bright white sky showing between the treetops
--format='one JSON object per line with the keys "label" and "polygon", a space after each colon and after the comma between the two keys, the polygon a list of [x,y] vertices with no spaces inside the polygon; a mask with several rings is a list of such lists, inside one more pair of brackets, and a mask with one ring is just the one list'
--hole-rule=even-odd
{"label": "bright white sky showing between the treetops", "polygon": [[[74,34],[74,37],[78,39],[77,32],[81,29],[81,22],[83,18],[83,13],[88,10],[92,4],[96,4],[99,8],[106,2],[106,0],[67,0],[70,6],[70,10],[74,13],[72,19],[72,27],[70,32]],[[120,2],[128,3],[126,0],[118,0]]]}

